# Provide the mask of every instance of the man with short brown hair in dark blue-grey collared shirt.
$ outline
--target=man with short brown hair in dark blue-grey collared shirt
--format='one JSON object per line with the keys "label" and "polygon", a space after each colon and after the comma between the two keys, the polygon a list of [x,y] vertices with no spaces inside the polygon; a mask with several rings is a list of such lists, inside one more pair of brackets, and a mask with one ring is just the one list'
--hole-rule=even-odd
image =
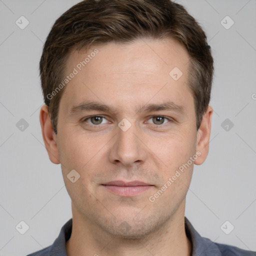
{"label": "man with short brown hair in dark blue-grey collared shirt", "polygon": [[213,59],[170,0],[84,0],[40,59],[42,136],[72,219],[31,255],[256,255],[203,238],[184,217],[208,153]]}

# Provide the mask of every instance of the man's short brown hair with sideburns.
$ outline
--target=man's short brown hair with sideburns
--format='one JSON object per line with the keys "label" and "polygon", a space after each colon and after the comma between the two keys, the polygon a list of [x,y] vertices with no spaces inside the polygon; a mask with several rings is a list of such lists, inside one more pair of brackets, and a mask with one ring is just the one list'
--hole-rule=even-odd
{"label": "man's short brown hair with sideburns", "polygon": [[196,129],[210,100],[213,58],[206,35],[185,8],[171,0],[83,0],[53,24],[40,58],[44,103],[57,134],[57,115],[63,89],[49,95],[65,76],[69,50],[93,44],[132,42],[137,38],[175,38],[185,46],[190,62],[188,87],[194,98]]}

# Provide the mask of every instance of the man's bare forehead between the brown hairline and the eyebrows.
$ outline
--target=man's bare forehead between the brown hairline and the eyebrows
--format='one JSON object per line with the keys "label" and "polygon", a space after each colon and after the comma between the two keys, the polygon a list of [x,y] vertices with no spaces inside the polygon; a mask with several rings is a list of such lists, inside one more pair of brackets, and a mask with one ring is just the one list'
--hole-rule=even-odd
{"label": "man's bare forehead between the brown hairline and the eyebrows", "polygon": [[141,101],[141,97],[159,102],[169,95],[182,101],[184,93],[189,93],[188,62],[185,47],[174,39],[138,39],[123,45],[108,42],[79,52],[72,49],[65,71],[69,74],[75,68],[77,74],[62,95],[66,110],[86,98],[104,103],[119,100],[122,105]]}

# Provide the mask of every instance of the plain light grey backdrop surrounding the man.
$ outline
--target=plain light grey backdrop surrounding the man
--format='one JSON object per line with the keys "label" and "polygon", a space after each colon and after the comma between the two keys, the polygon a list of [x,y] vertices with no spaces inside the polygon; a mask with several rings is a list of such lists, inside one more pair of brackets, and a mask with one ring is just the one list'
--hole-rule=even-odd
{"label": "plain light grey backdrop surrounding the man", "polygon": [[[52,244],[71,217],[60,165],[49,161],[41,136],[38,62],[53,22],[77,2],[0,0],[0,255]],[[206,31],[215,61],[210,149],[194,166],[185,215],[212,241],[256,250],[256,1],[177,2]],[[24,29],[15,24],[21,15],[29,21]],[[229,29],[226,15],[234,21]],[[24,234],[15,229],[21,220],[29,226]],[[226,220],[234,226],[229,234],[220,228]]]}

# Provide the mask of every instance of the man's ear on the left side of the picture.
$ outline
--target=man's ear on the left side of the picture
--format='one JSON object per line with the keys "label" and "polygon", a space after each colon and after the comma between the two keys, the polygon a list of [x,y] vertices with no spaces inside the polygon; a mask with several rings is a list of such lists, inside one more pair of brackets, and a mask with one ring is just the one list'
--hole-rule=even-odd
{"label": "man's ear on the left side of the picture", "polygon": [[41,124],[42,138],[43,138],[44,145],[47,150],[49,159],[51,162],[58,164],[60,163],[60,161],[59,161],[59,155],[58,155],[58,149],[57,149],[57,143],[56,143],[57,137],[54,133],[54,130],[50,121],[47,105],[43,105],[41,107],[39,119]]}

